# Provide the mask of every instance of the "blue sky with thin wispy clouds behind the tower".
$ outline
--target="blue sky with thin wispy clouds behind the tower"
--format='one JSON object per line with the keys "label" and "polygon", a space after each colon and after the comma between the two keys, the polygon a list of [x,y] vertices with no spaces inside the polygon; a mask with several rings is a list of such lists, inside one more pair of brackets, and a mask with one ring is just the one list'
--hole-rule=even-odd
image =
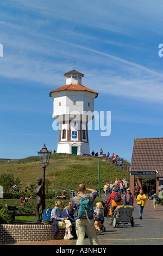
{"label": "blue sky with thin wispy clouds behind the tower", "polygon": [[89,131],[90,151],[130,161],[134,137],[162,137],[161,0],[5,0],[0,4],[0,158],[57,149],[49,92],[64,73],[85,74],[99,93],[95,111],[111,111],[111,135]]}

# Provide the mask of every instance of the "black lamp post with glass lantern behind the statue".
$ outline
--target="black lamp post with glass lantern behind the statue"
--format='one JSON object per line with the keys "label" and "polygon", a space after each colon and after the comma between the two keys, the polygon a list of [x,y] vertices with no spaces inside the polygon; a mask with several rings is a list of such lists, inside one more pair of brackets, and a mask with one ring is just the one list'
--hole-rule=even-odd
{"label": "black lamp post with glass lantern behind the statue", "polygon": [[42,166],[43,179],[42,179],[42,212],[45,210],[45,169],[49,165],[49,159],[51,157],[51,152],[47,150],[45,144],[40,151],[37,151],[40,159],[40,166]]}

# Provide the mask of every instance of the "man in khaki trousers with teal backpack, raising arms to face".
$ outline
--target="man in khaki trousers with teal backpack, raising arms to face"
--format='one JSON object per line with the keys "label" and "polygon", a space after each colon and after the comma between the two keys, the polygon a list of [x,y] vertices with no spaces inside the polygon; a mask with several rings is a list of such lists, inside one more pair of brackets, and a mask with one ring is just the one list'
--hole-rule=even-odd
{"label": "man in khaki trousers with teal backpack, raising arms to face", "polygon": [[[86,191],[90,193],[86,193]],[[73,197],[71,205],[75,209],[74,219],[76,220],[76,233],[78,236],[77,245],[85,245],[85,230],[89,236],[91,245],[98,245],[97,233],[93,221],[93,202],[98,192],[79,184],[78,193]]]}

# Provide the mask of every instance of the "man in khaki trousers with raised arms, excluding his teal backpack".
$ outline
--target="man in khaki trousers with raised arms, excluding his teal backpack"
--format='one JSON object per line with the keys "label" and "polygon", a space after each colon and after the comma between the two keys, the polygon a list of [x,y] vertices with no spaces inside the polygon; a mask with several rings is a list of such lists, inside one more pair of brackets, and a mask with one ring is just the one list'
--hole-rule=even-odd
{"label": "man in khaki trousers with raised arms, excluding his teal backpack", "polygon": [[[90,193],[86,193],[86,191]],[[77,196],[73,197],[72,199],[71,205],[75,209],[74,219],[76,220],[76,233],[78,236],[76,245],[85,245],[85,229],[87,235],[89,236],[91,245],[98,245],[98,238],[95,230],[93,215],[89,218],[89,221],[87,220],[87,218],[78,217],[78,209],[80,207],[81,197],[88,198],[91,202],[91,205],[93,206],[93,202],[95,201],[97,196],[98,192],[96,190],[93,190],[92,188],[86,188],[84,184],[79,184]]]}

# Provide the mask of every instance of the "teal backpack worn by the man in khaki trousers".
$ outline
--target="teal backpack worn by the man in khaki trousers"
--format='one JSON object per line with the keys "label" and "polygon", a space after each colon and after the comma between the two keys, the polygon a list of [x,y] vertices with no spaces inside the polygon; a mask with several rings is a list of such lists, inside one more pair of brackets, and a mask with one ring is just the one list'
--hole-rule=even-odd
{"label": "teal backpack worn by the man in khaki trousers", "polygon": [[77,211],[77,215],[79,218],[87,218],[87,220],[90,223],[89,218],[93,216],[93,208],[92,208],[91,202],[89,198],[83,198],[83,197],[79,197],[79,198],[81,199],[79,202],[80,206]]}

